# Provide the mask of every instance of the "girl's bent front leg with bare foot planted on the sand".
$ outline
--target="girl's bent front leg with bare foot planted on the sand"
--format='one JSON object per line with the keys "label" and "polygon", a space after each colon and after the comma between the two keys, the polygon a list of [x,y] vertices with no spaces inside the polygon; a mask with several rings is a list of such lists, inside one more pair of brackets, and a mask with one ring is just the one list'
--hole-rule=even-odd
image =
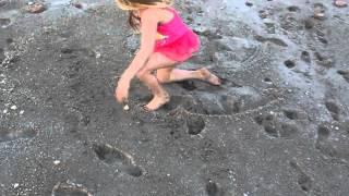
{"label": "girl's bent front leg with bare foot planted on the sand", "polygon": [[153,53],[144,68],[139,71],[137,77],[152,90],[152,94],[154,95],[151,102],[145,106],[147,110],[157,110],[169,101],[168,93],[159,84],[153,72],[158,69],[172,69],[174,64],[174,61],[164,57],[163,54]]}

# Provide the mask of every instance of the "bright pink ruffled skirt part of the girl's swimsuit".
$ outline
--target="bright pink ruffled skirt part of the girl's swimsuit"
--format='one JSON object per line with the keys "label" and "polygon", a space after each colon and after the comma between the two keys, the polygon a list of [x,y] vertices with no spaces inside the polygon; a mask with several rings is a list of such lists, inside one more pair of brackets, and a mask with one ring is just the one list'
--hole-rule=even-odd
{"label": "bright pink ruffled skirt part of the girl's swimsuit", "polygon": [[183,62],[198,51],[198,36],[192,30],[188,30],[172,41],[157,40],[154,52],[159,52],[173,61]]}

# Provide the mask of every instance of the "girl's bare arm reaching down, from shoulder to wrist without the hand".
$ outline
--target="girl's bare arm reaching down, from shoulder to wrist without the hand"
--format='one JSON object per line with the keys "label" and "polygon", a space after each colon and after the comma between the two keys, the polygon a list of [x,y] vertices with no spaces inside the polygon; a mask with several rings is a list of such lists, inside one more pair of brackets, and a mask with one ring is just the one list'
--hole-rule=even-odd
{"label": "girl's bare arm reaching down, from shoulder to wrist without the hand", "polygon": [[129,82],[145,65],[155,47],[157,24],[159,22],[156,10],[147,9],[143,11],[141,20],[141,48],[129,68],[122,74],[122,77]]}

